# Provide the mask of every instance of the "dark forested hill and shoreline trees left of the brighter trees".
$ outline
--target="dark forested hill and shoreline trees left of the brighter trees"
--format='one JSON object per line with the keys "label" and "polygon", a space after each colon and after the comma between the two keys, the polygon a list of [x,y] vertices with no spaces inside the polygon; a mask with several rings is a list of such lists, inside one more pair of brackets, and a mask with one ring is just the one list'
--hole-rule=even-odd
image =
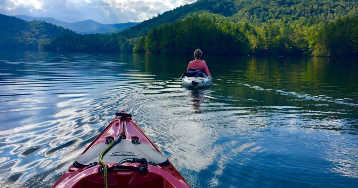
{"label": "dark forested hill and shoreline trees left of the brighter trees", "polygon": [[77,34],[43,21],[0,14],[0,49],[132,52],[134,39],[120,34]]}

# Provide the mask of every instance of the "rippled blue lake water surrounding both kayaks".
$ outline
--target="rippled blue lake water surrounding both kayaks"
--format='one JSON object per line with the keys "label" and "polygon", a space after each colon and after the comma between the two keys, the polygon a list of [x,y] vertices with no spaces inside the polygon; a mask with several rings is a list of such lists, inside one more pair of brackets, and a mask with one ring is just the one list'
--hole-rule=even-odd
{"label": "rippled blue lake water surrounding both kayaks", "polygon": [[126,110],[193,188],[357,187],[357,59],[0,52],[0,187],[51,187]]}

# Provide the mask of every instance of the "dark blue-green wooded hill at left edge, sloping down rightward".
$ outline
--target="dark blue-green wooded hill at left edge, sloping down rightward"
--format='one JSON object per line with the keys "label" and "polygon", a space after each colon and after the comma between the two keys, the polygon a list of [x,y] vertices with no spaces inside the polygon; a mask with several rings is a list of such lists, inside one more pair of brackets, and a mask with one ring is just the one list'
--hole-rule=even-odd
{"label": "dark blue-green wooded hill at left edge, sloping down rightward", "polygon": [[0,14],[0,49],[38,49],[39,39],[74,33],[43,21],[25,21]]}

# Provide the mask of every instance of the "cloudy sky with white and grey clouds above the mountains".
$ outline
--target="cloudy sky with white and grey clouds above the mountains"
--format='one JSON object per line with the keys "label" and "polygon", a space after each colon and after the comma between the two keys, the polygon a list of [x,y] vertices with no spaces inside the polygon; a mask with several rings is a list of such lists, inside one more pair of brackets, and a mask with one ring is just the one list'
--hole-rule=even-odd
{"label": "cloudy sky with white and grey clouds above the mountains", "polygon": [[69,23],[141,22],[196,0],[0,0],[0,14],[52,17]]}

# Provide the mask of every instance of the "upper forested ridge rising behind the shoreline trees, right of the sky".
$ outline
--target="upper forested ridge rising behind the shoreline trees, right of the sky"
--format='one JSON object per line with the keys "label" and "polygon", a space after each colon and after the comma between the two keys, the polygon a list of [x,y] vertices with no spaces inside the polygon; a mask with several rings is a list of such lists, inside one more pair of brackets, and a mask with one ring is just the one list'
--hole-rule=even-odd
{"label": "upper forested ridge rising behind the shoreline trees, right of the sky", "polygon": [[173,23],[186,15],[209,14],[234,23],[248,22],[255,26],[262,23],[304,25],[327,23],[345,15],[357,15],[355,0],[198,0],[180,6],[157,17],[125,30],[129,38],[147,34],[150,29],[164,23]]}

